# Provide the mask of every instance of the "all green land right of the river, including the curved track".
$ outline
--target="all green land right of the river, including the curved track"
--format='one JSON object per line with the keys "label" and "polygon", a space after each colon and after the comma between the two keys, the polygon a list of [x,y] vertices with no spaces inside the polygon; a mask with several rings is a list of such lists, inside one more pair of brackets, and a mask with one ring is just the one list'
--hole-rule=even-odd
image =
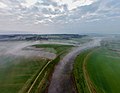
{"label": "all green land right of the river, including the curved track", "polygon": [[120,92],[120,43],[107,40],[101,47],[81,53],[75,60],[74,76],[79,93]]}

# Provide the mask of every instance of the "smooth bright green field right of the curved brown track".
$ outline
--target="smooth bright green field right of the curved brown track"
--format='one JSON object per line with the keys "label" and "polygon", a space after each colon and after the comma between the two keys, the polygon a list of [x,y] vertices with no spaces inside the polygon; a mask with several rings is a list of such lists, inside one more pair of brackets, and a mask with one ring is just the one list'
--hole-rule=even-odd
{"label": "smooth bright green field right of the curved brown track", "polygon": [[89,76],[98,93],[120,92],[120,55],[115,51],[100,48],[87,60]]}

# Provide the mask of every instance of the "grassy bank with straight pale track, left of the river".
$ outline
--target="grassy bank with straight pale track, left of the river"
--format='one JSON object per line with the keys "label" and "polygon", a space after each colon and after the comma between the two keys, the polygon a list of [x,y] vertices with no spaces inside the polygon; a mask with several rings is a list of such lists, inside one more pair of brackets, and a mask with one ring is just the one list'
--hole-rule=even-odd
{"label": "grassy bank with straight pale track, left of the river", "polygon": [[60,55],[49,61],[35,76],[23,86],[19,93],[42,93],[49,84],[49,76],[54,66],[59,62]]}

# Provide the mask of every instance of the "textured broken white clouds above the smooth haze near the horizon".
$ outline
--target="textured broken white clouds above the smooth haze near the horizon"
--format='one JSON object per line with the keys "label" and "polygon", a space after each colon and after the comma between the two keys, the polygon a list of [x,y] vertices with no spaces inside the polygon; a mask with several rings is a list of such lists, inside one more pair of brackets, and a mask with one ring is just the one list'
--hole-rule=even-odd
{"label": "textured broken white clouds above the smooth haze near the horizon", "polygon": [[63,25],[117,18],[119,0],[0,0],[0,26]]}

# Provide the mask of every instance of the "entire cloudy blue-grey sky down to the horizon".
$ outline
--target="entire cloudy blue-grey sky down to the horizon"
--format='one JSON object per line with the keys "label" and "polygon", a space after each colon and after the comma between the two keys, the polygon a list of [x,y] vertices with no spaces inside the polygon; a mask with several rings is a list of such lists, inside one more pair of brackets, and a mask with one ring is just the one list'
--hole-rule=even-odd
{"label": "entire cloudy blue-grey sky down to the horizon", "polygon": [[0,0],[1,33],[120,33],[120,0]]}

